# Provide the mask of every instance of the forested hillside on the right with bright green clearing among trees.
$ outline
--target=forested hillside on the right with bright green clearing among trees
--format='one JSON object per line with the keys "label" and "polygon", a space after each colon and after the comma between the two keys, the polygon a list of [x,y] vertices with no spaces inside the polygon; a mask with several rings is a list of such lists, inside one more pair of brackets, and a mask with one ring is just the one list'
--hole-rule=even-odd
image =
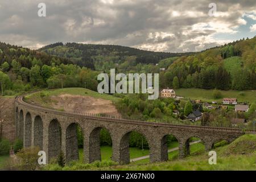
{"label": "forested hillside on the right with bright green clearing among trees", "polygon": [[181,56],[160,73],[162,88],[256,89],[256,36]]}

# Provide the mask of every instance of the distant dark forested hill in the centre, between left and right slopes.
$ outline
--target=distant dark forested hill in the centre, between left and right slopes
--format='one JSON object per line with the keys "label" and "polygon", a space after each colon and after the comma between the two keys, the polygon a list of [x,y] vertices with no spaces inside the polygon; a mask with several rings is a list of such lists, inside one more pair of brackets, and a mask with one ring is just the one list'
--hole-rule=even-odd
{"label": "distant dark forested hill in the centre, between left and right slopes", "polygon": [[192,54],[190,52],[152,52],[125,46],[80,43],[63,44],[61,42],[40,48],[39,51],[49,53],[50,55],[67,57],[77,65],[85,66],[99,71],[102,69],[101,66],[103,64],[113,65],[113,67],[115,64],[122,64],[125,61],[129,61],[131,64],[156,64],[159,63],[160,60],[166,59],[168,57]]}

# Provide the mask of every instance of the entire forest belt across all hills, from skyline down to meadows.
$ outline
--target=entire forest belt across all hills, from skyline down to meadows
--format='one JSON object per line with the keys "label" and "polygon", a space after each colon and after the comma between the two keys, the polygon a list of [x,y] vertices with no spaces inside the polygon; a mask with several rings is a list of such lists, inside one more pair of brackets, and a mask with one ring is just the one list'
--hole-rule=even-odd
{"label": "entire forest belt across all hills, from skyline down to meadows", "polygon": [[256,36],[197,53],[77,43],[30,50],[0,43],[0,65],[1,93],[6,95],[85,83],[96,90],[97,75],[112,68],[116,73],[159,73],[160,88],[254,90]]}

